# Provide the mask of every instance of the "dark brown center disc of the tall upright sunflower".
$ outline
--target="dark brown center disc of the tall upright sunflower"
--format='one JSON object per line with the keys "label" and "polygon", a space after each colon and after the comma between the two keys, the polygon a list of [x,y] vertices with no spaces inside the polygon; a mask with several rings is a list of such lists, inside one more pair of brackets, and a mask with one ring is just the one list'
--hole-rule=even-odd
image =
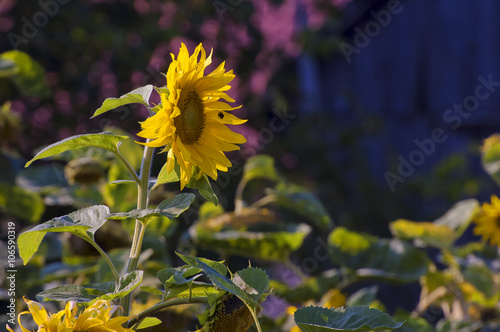
{"label": "dark brown center disc of the tall upright sunflower", "polygon": [[174,119],[177,133],[184,144],[195,143],[205,127],[203,102],[195,91],[190,91],[179,98],[181,114]]}

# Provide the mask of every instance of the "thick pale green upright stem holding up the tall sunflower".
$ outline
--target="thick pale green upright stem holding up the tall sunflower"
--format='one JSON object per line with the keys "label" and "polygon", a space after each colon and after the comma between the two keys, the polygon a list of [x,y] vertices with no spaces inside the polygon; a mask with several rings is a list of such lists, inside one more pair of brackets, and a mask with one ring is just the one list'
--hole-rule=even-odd
{"label": "thick pale green upright stem holding up the tall sunflower", "polygon": [[[149,142],[149,140],[147,141]],[[151,169],[151,161],[153,160],[154,148],[146,146],[144,148],[144,155],[142,158],[141,174],[139,182],[137,183],[137,208],[146,209],[149,200],[149,173]],[[141,254],[142,240],[146,225],[140,220],[135,221],[134,238],[132,240],[132,247],[130,248],[130,256],[128,259],[127,273],[134,271],[139,263],[139,256]],[[121,299],[124,315],[127,316],[130,312],[130,302],[132,301],[132,293]]]}

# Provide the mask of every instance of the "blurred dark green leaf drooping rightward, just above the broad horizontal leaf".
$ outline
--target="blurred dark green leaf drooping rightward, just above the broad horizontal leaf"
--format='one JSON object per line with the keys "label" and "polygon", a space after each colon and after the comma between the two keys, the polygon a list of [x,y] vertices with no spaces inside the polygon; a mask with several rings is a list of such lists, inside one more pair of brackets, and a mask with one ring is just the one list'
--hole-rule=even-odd
{"label": "blurred dark green leaf drooping rightward, just above the broad horizontal leaf", "polygon": [[311,225],[320,230],[329,231],[333,227],[333,220],[321,201],[306,189],[293,185],[279,183],[273,190],[278,204],[309,220]]}

